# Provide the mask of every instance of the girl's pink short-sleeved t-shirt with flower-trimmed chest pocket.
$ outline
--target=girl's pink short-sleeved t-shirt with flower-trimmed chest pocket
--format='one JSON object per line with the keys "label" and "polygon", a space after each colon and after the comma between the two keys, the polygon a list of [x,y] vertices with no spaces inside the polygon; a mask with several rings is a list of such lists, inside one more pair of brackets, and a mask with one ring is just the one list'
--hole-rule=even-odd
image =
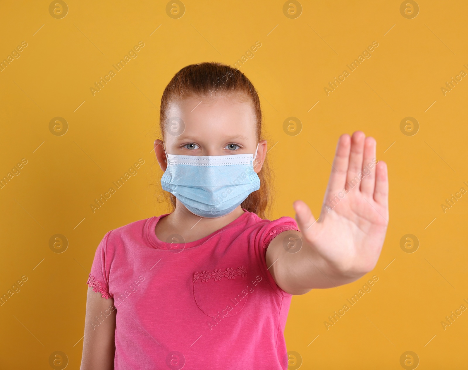
{"label": "girl's pink short-sleeved t-shirt with flower-trimmed chest pocket", "polygon": [[[245,210],[244,210],[245,211]],[[116,370],[286,369],[291,295],[267,270],[266,248],[291,217],[246,211],[190,243],[159,240],[161,216],[111,230],[98,245],[88,285],[117,309]]]}

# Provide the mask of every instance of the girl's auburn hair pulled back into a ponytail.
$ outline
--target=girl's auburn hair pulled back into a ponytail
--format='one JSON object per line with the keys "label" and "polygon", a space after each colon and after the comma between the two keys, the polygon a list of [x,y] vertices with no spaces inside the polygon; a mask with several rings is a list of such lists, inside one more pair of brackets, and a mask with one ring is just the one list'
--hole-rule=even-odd
{"label": "girl's auburn hair pulled back into a ponytail", "polygon": [[[169,105],[172,102],[193,96],[209,98],[221,95],[238,96],[252,103],[256,118],[256,141],[264,140],[262,109],[254,85],[239,69],[218,62],[190,64],[183,67],[169,81],[161,97],[159,126],[162,140],[164,141],[166,137],[166,128],[170,118],[168,117]],[[250,193],[241,203],[242,208],[263,219],[268,217],[272,200],[272,172],[267,159],[265,157],[262,169],[257,173],[260,178],[260,189]],[[165,191],[162,194],[174,211],[176,197]]]}

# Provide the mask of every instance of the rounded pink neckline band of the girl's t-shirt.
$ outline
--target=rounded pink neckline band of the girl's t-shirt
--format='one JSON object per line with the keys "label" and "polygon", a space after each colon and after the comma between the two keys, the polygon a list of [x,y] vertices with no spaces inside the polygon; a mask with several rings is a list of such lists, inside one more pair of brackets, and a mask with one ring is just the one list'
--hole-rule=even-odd
{"label": "rounded pink neckline band of the girl's t-shirt", "polygon": [[[205,243],[208,239],[210,239],[211,237],[213,237],[214,235],[228,229],[228,228],[231,228],[233,227],[234,225],[236,225],[237,223],[241,222],[243,219],[245,219],[246,217],[248,217],[248,215],[250,215],[250,212],[247,211],[246,209],[242,208],[242,210],[244,211],[244,213],[242,215],[240,215],[239,217],[237,217],[234,221],[228,223],[226,226],[223,226],[221,229],[218,229],[214,232],[212,232],[211,234],[207,235],[206,237],[202,237],[201,239],[198,239],[198,240],[194,240],[193,242],[189,242],[189,243],[168,243],[168,242],[163,242],[162,240],[160,240],[157,236],[156,236],[156,233],[155,233],[155,227],[156,227],[156,224],[158,223],[158,221],[162,218],[162,217],[165,217],[167,215],[170,215],[169,213],[166,213],[166,214],[163,214],[163,215],[159,215],[159,216],[153,216],[153,217],[150,217],[147,219],[146,221],[146,225],[145,225],[145,234],[146,234],[146,240],[148,241],[148,243],[155,249],[162,249],[162,250],[167,250],[167,251],[173,251],[173,250],[181,250],[181,249],[187,249],[187,248],[193,248],[193,247],[197,247],[203,243]],[[178,235],[178,234],[174,234],[174,238],[175,240],[178,240],[178,239],[182,239],[183,238]]]}

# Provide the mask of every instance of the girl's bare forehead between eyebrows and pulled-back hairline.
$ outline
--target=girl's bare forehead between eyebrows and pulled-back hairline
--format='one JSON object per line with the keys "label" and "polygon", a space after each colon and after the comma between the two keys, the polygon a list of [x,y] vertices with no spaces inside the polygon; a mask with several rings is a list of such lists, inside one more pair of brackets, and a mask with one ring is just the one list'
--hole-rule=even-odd
{"label": "girl's bare forehead between eyebrows and pulled-back hairline", "polygon": [[[196,136],[255,136],[256,116],[251,101],[235,95],[191,96],[169,104],[168,115],[185,125],[176,139]],[[170,124],[170,122],[168,123]]]}

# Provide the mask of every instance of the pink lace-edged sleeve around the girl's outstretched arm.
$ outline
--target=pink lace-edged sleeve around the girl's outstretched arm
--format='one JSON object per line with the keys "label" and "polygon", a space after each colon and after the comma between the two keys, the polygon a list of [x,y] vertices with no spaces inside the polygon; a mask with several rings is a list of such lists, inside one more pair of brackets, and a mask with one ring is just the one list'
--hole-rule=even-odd
{"label": "pink lace-edged sleeve around the girl's outstretched arm", "polygon": [[296,221],[292,217],[283,216],[278,218],[277,220],[266,222],[259,230],[256,241],[257,250],[259,251],[260,255],[260,266],[271,288],[273,288],[280,296],[291,296],[291,294],[281,289],[276,284],[276,281],[275,279],[273,279],[273,276],[271,276],[269,270],[270,266],[266,266],[266,250],[268,248],[268,245],[270,245],[271,241],[275,237],[277,237],[282,232],[289,230],[300,231]]}

